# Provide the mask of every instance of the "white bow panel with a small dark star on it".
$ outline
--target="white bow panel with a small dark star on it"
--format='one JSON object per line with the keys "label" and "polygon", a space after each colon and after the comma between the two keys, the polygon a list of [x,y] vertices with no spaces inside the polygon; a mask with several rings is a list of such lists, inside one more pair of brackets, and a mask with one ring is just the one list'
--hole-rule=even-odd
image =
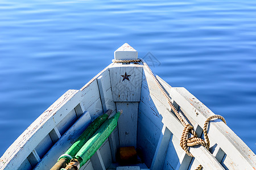
{"label": "white bow panel with a small dark star on it", "polygon": [[114,65],[109,68],[109,72],[113,100],[115,102],[140,101],[142,82],[141,65],[122,65],[121,67]]}

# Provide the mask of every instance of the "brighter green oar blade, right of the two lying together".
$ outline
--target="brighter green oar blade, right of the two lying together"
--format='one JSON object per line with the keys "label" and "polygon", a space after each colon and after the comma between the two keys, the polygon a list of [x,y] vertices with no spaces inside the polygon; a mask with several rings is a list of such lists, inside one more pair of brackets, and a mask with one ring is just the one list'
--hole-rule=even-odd
{"label": "brighter green oar blade, right of the two lying together", "polygon": [[101,127],[92,135],[92,137],[85,143],[84,146],[77,152],[76,156],[73,158],[80,163],[80,167],[84,165],[101,147],[106,138],[112,133],[112,131],[117,127],[117,121],[122,113],[118,111],[113,117],[109,118],[101,125]]}

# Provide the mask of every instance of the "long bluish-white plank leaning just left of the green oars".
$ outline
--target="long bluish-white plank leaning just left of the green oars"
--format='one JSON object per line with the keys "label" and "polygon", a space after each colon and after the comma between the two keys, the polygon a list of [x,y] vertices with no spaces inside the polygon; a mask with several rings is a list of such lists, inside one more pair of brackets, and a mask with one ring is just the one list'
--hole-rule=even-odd
{"label": "long bluish-white plank leaning just left of the green oars", "polygon": [[90,114],[84,113],[76,123],[55,143],[55,145],[47,152],[44,158],[36,165],[35,169],[51,169],[56,163],[60,155],[76,141],[82,132],[89,126],[91,122]]}

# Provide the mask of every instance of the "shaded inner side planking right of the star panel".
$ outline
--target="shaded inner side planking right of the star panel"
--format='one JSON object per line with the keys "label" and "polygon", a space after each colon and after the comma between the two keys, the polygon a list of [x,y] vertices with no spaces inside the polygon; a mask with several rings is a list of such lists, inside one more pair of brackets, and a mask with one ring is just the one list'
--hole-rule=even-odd
{"label": "shaded inner side planking right of the star panel", "polygon": [[150,98],[146,77],[143,74],[141,102],[138,109],[137,150],[145,164],[150,167],[162,133],[163,117]]}

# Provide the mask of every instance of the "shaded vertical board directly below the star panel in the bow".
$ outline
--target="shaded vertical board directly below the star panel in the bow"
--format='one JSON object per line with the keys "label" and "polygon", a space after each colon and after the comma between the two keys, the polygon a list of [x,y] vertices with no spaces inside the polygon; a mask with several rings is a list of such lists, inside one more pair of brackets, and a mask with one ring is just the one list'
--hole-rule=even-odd
{"label": "shaded vertical board directly below the star panel in the bow", "polygon": [[[117,110],[123,110],[118,120],[120,147],[137,147],[138,103],[116,103]],[[131,126],[132,125],[132,126]]]}

